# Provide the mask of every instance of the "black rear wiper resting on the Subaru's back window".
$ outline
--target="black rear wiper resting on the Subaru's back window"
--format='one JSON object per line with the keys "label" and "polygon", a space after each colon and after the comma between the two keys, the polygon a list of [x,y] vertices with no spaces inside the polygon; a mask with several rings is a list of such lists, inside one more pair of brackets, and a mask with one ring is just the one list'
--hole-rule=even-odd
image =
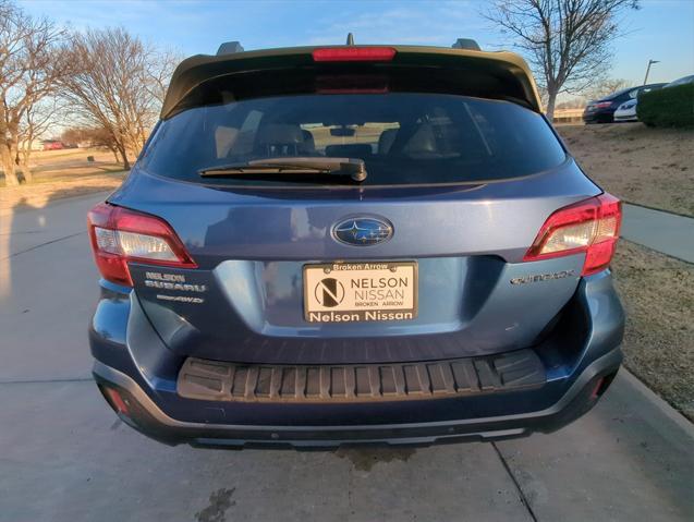
{"label": "black rear wiper resting on the Subaru's back window", "polygon": [[269,174],[328,174],[349,175],[353,181],[366,179],[366,167],[358,158],[315,158],[288,157],[254,159],[239,163],[208,167],[200,169],[200,177],[253,177],[265,178]]}

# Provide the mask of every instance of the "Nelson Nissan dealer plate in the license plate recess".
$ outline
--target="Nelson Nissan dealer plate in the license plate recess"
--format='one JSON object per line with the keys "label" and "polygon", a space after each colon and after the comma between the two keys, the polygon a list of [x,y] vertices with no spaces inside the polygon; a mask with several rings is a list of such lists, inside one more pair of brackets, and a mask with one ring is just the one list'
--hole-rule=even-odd
{"label": "Nelson Nissan dealer plate in the license plate recess", "polygon": [[308,323],[410,320],[416,316],[414,262],[304,266],[304,318]]}

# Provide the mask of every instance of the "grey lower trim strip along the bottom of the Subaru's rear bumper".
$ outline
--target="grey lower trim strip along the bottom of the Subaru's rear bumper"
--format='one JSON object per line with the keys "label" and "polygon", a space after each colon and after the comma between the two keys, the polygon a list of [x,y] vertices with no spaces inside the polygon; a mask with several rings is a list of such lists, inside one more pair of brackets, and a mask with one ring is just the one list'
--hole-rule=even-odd
{"label": "grey lower trim strip along the bottom of the Subaru's rear bumper", "polygon": [[[498,439],[553,432],[580,417],[607,389],[622,361],[614,349],[588,365],[559,401],[549,408],[511,415],[419,422],[350,425],[236,425],[175,420],[165,413],[127,375],[98,361],[99,388],[118,390],[127,408],[121,418],[143,434],[176,445],[338,447],[354,444],[430,445],[459,439]],[[418,408],[418,405],[416,406]]]}

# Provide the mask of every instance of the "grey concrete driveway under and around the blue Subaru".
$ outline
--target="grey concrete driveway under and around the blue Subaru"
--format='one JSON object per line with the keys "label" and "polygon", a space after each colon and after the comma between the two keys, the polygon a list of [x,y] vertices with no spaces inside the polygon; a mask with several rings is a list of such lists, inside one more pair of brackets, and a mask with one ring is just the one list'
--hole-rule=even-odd
{"label": "grey concrete driveway under and around the blue Subaru", "polygon": [[102,195],[0,215],[0,521],[694,520],[694,429],[621,372],[552,435],[423,449],[169,448],[89,379]]}

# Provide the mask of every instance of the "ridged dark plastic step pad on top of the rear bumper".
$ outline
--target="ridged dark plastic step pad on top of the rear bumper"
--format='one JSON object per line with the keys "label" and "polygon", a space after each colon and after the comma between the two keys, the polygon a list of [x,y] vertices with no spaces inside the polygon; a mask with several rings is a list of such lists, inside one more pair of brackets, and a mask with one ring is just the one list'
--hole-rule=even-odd
{"label": "ridged dark plastic step pad on top of the rear bumper", "polygon": [[545,367],[533,350],[423,363],[255,365],[188,357],[178,392],[238,402],[372,402],[538,388]]}

